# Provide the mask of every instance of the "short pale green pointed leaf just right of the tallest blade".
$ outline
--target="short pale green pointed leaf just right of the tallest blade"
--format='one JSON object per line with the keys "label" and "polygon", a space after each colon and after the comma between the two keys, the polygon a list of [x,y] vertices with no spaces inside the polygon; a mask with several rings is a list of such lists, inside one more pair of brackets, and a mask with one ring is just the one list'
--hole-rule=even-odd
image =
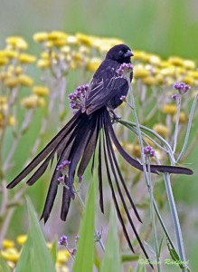
{"label": "short pale green pointed leaf just right of the tallest blade", "polygon": [[101,272],[120,272],[121,262],[119,254],[119,240],[117,220],[115,215],[115,209],[111,207],[109,228],[108,228],[108,241],[106,246],[105,255],[101,264]]}

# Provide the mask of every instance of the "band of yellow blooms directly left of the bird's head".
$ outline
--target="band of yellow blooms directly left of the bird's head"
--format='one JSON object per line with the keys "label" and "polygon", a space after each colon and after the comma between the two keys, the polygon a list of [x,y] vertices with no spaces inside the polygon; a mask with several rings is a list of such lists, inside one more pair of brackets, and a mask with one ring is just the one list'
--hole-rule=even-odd
{"label": "band of yellow blooms directly left of the bird's head", "polygon": [[37,66],[41,69],[60,67],[62,73],[79,67],[95,72],[101,63],[101,55],[113,45],[123,43],[116,38],[80,33],[71,35],[60,31],[37,33],[33,40],[42,44],[44,49]]}

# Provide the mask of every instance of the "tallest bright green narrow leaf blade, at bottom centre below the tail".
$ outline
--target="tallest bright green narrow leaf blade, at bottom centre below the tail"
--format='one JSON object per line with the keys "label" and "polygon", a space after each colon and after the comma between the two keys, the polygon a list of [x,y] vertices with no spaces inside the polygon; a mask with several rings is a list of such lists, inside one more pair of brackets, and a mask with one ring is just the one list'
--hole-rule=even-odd
{"label": "tallest bright green narrow leaf blade, at bottom centre below the tail", "polygon": [[94,227],[96,189],[95,179],[90,183],[87,204],[80,224],[80,239],[77,245],[77,254],[73,264],[73,272],[92,272],[94,263]]}

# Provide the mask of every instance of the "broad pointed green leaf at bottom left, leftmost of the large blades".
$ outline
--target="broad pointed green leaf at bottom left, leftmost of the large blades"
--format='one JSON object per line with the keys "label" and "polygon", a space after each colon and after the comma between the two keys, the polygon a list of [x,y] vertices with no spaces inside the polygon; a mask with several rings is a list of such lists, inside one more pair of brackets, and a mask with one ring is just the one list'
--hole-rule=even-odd
{"label": "broad pointed green leaf at bottom left, leftmost of the large blades", "polygon": [[16,272],[55,272],[51,254],[46,246],[39,221],[35,216],[33,204],[26,198],[30,227],[28,238],[16,266]]}

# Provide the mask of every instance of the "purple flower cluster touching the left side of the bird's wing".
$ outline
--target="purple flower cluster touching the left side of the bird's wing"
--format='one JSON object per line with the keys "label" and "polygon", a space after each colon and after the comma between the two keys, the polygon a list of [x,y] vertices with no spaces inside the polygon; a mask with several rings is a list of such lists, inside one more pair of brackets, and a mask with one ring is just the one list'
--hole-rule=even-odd
{"label": "purple flower cluster touching the left side of the bird's wing", "polygon": [[81,109],[84,106],[85,94],[89,90],[89,84],[81,85],[76,88],[75,92],[69,94],[68,98],[71,100],[71,109]]}

